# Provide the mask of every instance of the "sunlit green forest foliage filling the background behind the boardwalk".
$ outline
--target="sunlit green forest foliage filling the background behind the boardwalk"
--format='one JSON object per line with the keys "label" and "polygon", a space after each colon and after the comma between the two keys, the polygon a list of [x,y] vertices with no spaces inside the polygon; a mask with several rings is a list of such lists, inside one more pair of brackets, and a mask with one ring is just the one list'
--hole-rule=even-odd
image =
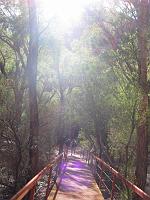
{"label": "sunlit green forest foliage filling the background behind the boardwalk", "polygon": [[[5,172],[2,179],[10,174],[13,184],[16,171],[17,180],[26,181],[29,159],[30,111],[26,83],[29,27],[23,2],[0,3],[0,47],[6,57],[8,75],[5,79],[0,74],[0,144],[7,150],[2,152],[0,167]],[[78,37],[58,33],[55,20],[39,36],[40,167],[51,159],[58,145],[58,133],[62,133],[62,138],[72,137],[72,127],[76,126],[80,129],[81,147],[95,146],[99,153],[101,140],[102,151],[107,150],[120,171],[134,179],[135,129],[140,101],[137,30],[131,15],[136,13],[122,4],[120,8],[112,7],[103,9],[100,5],[87,9]],[[44,25],[41,23],[39,27]],[[108,35],[115,39],[115,48]],[[148,65],[148,79],[149,76]],[[17,168],[18,155],[22,158]],[[4,156],[7,157],[5,162]]]}

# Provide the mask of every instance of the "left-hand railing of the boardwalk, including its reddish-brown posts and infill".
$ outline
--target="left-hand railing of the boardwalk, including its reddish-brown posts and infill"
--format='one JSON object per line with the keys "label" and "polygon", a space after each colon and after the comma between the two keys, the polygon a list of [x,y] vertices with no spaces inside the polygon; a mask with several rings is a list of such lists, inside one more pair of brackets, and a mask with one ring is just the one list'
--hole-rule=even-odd
{"label": "left-hand railing of the boardwalk, including its reddish-brown posts and infill", "polygon": [[[61,161],[63,154],[60,154],[55,160],[48,164],[43,170],[41,170],[36,176],[34,176],[19,192],[11,198],[11,200],[21,200],[27,195],[28,200],[33,200],[37,193],[40,193],[38,187],[38,181],[41,181],[44,178],[44,183],[47,181],[45,188],[44,199],[47,199],[54,184],[56,183],[57,176],[60,172]],[[43,189],[43,186],[42,186]],[[43,194],[43,192],[42,192]],[[42,198],[40,198],[42,199]]]}

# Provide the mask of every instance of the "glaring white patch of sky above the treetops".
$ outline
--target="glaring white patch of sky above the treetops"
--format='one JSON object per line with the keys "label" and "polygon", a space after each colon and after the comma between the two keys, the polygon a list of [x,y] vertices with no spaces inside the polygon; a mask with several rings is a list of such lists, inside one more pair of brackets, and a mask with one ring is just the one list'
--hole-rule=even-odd
{"label": "glaring white patch of sky above the treetops", "polygon": [[[100,0],[38,0],[45,21],[56,17],[61,29],[67,29],[80,20],[84,7]],[[57,24],[58,25],[58,24]]]}

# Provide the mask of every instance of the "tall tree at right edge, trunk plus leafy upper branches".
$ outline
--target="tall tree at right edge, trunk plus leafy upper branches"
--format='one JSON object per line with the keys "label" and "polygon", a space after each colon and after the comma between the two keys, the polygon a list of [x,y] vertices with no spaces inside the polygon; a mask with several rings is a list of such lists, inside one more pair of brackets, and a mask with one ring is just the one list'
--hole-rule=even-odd
{"label": "tall tree at right edge, trunk plus leafy upper branches", "polygon": [[[111,25],[111,23],[106,22],[104,16],[98,15],[96,19],[106,36],[104,37],[104,39],[107,39],[105,43],[108,44],[109,42],[114,52],[119,52],[121,50],[119,56],[120,58],[124,58],[124,60],[119,63],[122,74],[130,84],[136,84],[140,93],[140,102],[138,104],[135,183],[144,190],[148,159],[148,32],[150,2],[148,0],[121,0],[118,1],[115,6],[120,6],[120,10],[116,10],[116,14],[118,14],[119,19],[121,19],[120,27],[116,28],[116,24],[119,20],[116,21],[115,25]],[[126,9],[127,11],[124,12]],[[117,15],[114,15],[114,18],[116,16]],[[112,22],[114,22],[114,20],[112,20]],[[114,29],[112,29],[112,27],[114,27]],[[130,38],[134,38],[131,45],[131,55],[134,54],[133,57],[129,57],[127,53],[130,49],[128,45],[131,43]],[[125,43],[122,44],[122,41],[125,41]],[[105,49],[106,48],[107,46]],[[129,59],[127,61],[128,57]],[[114,54],[113,59],[118,59],[116,54]],[[116,66],[118,66],[118,64],[116,64]],[[134,198],[139,199],[138,197]]]}

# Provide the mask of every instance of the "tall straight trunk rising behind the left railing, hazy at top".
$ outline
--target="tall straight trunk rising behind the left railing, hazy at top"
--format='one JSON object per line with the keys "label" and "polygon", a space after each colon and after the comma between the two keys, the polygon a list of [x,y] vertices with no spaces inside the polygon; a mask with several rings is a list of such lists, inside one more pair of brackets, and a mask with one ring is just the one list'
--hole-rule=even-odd
{"label": "tall straight trunk rising behind the left railing, hazy at top", "polygon": [[33,177],[38,170],[38,134],[39,119],[36,92],[37,60],[38,60],[38,22],[35,0],[28,0],[29,6],[29,54],[27,57],[30,137],[29,137],[29,176]]}

